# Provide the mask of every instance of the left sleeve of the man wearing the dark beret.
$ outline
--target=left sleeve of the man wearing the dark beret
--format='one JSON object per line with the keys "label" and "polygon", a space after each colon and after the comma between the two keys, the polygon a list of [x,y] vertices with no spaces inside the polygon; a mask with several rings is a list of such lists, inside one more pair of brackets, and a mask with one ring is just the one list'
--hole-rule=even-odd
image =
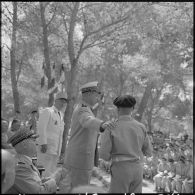
{"label": "left sleeve of the man wearing the dark beret", "polygon": [[100,139],[100,158],[109,161],[111,159],[111,151],[112,151],[112,140],[111,133],[108,130],[105,130],[104,133],[101,134]]}

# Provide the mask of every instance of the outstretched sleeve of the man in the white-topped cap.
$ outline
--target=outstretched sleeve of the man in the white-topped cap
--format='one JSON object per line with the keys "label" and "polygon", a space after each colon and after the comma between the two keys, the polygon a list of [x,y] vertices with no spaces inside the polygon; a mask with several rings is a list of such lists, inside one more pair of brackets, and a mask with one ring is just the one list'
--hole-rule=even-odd
{"label": "outstretched sleeve of the man in the white-topped cap", "polygon": [[87,129],[99,131],[102,120],[96,118],[87,107],[81,107],[78,113],[80,124]]}

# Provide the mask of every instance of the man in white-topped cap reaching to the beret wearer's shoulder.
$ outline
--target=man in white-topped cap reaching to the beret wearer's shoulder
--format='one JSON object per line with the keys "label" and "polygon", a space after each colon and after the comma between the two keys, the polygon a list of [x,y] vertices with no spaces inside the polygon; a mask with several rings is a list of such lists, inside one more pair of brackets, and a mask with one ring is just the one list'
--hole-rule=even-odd
{"label": "man in white-topped cap reaching to the beret wearer's shoulder", "polygon": [[98,133],[114,126],[110,121],[96,118],[92,112],[101,94],[98,82],[87,83],[80,90],[82,102],[73,111],[64,160],[64,166],[69,170],[71,188],[90,183]]}

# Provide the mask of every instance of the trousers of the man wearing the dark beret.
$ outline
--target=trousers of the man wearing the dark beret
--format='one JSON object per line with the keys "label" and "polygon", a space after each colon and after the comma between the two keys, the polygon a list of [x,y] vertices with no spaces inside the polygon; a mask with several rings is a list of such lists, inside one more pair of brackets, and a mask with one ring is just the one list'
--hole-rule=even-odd
{"label": "trousers of the man wearing the dark beret", "polygon": [[111,165],[109,193],[142,193],[143,165],[122,161]]}

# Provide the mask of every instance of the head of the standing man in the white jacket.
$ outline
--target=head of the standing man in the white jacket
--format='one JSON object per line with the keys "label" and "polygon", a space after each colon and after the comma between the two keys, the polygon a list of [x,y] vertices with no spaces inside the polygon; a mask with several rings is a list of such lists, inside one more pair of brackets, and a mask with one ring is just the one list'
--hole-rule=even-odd
{"label": "head of the standing man in the white jacket", "polygon": [[54,106],[60,110],[60,111],[64,111],[67,105],[67,95],[66,93],[63,92],[59,92],[56,94],[55,96],[55,103]]}

